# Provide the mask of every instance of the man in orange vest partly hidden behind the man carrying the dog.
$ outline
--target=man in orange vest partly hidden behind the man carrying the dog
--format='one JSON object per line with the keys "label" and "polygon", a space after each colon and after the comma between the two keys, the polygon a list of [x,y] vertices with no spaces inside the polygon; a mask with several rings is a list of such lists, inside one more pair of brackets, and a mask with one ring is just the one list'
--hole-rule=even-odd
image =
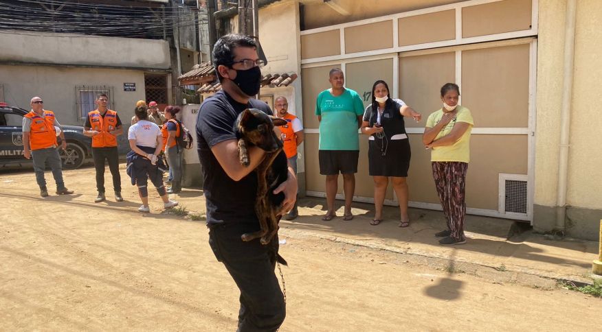
{"label": "man in orange vest partly hidden behind the man carrying the dog", "polygon": [[[303,126],[298,117],[289,113],[289,102],[285,97],[277,97],[274,102],[274,110],[276,116],[287,120],[285,126],[276,127],[280,130],[280,137],[282,142],[285,144],[284,150],[289,160],[289,165],[293,167],[295,173],[297,173],[297,147],[303,142]],[[293,209],[285,216],[286,220],[293,220],[298,217],[299,212],[297,209],[297,202]]]}

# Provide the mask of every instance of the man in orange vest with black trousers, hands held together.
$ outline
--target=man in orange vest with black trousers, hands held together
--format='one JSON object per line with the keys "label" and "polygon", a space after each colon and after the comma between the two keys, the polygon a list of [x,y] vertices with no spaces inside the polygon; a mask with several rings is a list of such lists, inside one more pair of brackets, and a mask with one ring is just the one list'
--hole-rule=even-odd
{"label": "man in orange vest with black trousers, hands held together", "polygon": [[104,160],[109,163],[109,170],[113,176],[113,189],[115,201],[123,202],[121,196],[121,176],[119,174],[119,153],[117,137],[123,133],[121,119],[114,110],[109,110],[109,97],[101,93],[96,97],[98,108],[88,113],[84,134],[92,138],[92,157],[96,168],[96,189],[98,197],[94,202],[100,203],[104,196]]}

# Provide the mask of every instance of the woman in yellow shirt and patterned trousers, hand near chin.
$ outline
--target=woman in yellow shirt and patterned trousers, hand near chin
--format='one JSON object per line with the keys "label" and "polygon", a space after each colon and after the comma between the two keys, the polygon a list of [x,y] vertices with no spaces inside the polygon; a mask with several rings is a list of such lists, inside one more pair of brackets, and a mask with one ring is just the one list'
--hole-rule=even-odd
{"label": "woman in yellow shirt and patterned trousers, hand near chin", "polygon": [[458,85],[447,83],[441,88],[443,108],[428,117],[423,134],[423,143],[431,150],[433,178],[447,220],[447,230],[435,236],[443,237],[439,244],[451,246],[466,243],[465,183],[474,126],[470,110],[458,105],[459,97]]}

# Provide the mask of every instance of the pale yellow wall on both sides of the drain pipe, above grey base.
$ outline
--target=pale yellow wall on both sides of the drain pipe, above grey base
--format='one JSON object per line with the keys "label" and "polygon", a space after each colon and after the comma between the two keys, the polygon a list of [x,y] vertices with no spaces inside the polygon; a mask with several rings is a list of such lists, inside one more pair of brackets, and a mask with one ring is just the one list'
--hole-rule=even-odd
{"label": "pale yellow wall on both sides of the drain pipe, above grey base", "polygon": [[[602,1],[577,1],[567,204],[602,209]],[[535,204],[557,200],[566,0],[539,0]]]}

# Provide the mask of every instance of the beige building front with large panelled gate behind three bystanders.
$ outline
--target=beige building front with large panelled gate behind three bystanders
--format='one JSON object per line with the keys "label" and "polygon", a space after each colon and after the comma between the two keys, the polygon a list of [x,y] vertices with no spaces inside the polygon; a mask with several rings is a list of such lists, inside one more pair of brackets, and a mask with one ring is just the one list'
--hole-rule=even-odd
{"label": "beige building front with large panelled gate behind three bystanders", "polygon": [[[329,87],[330,69],[344,71],[346,86],[363,96],[365,105],[372,83],[382,79],[392,97],[424,117],[441,108],[439,88],[456,82],[460,103],[476,123],[468,213],[529,222],[539,232],[598,238],[602,156],[596,152],[601,140],[596,106],[602,94],[596,83],[602,46],[594,40],[602,38],[597,25],[602,2],[268,2],[259,11],[268,67],[300,73],[293,94],[306,132],[300,180],[307,195],[325,191],[314,108],[317,94]],[[412,145],[410,206],[440,209],[430,155],[421,142],[424,125],[424,120],[406,121]],[[360,142],[355,200],[372,202],[367,137]],[[386,203],[397,204],[392,191]]]}

